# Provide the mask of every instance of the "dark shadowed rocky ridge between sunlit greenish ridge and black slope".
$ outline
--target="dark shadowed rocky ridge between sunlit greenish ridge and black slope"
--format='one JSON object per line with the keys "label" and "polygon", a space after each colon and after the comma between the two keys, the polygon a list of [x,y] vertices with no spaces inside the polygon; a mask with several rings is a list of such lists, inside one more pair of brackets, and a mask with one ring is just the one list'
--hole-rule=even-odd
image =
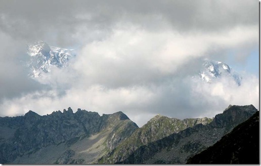
{"label": "dark shadowed rocky ridge between sunlit greenish ridge and black slope", "polygon": [[186,163],[189,157],[219,141],[256,111],[253,105],[230,106],[207,125],[199,124],[143,145],[128,158],[116,163]]}

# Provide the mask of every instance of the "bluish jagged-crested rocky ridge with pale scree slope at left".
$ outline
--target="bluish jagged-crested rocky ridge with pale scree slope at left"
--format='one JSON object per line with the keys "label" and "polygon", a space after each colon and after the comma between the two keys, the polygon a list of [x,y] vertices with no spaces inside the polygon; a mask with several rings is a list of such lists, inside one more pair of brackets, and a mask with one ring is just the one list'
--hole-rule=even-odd
{"label": "bluish jagged-crested rocky ridge with pale scree slope at left", "polygon": [[[68,108],[63,113],[56,111],[44,116],[29,111],[24,116],[1,117],[0,130],[5,134],[0,136],[0,163],[88,163],[114,149],[136,129],[136,123],[122,112],[100,116],[81,109],[73,113]],[[86,146],[80,147],[80,142]],[[90,143],[102,146],[87,161],[84,155],[95,151]],[[55,154],[46,156],[45,160],[30,157],[52,149]],[[63,159],[66,157],[67,160]]]}

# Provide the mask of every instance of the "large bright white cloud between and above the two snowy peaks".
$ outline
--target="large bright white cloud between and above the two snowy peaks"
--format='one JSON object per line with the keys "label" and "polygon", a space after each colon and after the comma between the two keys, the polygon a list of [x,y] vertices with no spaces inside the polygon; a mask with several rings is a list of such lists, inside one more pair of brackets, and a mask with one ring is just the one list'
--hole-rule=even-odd
{"label": "large bright white cloud between and above the two snowy peaks", "polygon": [[209,52],[257,44],[256,34],[257,27],[193,35],[171,29],[150,32],[131,26],[115,28],[110,37],[83,47],[73,67],[81,71],[88,84],[147,84],[173,75],[192,74],[202,63],[197,60],[208,57]]}

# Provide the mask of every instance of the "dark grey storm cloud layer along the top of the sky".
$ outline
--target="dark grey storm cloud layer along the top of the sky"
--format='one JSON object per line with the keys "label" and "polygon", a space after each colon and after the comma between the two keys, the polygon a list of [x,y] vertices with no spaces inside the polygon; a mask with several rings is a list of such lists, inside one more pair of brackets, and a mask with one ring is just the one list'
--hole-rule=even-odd
{"label": "dark grey storm cloud layer along the top of the sky", "polygon": [[[255,1],[1,1],[1,29],[13,37],[49,40],[68,47],[80,27],[110,31],[118,22],[146,29],[165,22],[181,33],[258,24]],[[163,24],[162,24],[163,23]],[[103,34],[105,35],[105,34]],[[88,34],[83,37],[88,38]],[[96,39],[91,37],[90,40]]]}

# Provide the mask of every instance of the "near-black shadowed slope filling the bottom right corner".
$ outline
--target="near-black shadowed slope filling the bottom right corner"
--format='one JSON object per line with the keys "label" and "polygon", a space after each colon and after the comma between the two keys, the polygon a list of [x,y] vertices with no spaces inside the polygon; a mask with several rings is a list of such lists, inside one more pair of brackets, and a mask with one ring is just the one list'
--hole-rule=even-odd
{"label": "near-black shadowed slope filling the bottom right corner", "polygon": [[187,163],[259,164],[259,111]]}

